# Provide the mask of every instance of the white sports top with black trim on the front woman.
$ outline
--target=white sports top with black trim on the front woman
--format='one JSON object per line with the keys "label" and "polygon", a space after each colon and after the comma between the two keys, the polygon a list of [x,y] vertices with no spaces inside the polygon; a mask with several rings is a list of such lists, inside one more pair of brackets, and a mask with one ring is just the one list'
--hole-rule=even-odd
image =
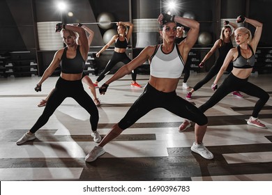
{"label": "white sports top with black trim on the front woman", "polygon": [[177,79],[181,77],[184,61],[179,48],[174,45],[172,52],[163,53],[162,45],[157,46],[150,60],[150,75],[158,78]]}

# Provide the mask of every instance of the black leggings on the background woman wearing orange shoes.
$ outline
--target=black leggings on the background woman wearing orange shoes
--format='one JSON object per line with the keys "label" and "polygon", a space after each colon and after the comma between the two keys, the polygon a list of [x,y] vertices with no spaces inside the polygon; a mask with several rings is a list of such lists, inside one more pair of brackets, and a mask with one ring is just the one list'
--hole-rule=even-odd
{"label": "black leggings on the background woman wearing orange shoes", "polygon": [[[116,63],[123,62],[124,64],[127,64],[130,61],[131,60],[126,55],[126,52],[123,52],[123,53],[114,52],[114,54],[112,55],[112,59],[109,60],[105,69],[103,70],[103,72],[100,73],[100,75],[99,75],[98,79],[96,79],[96,81],[98,81],[98,82],[102,81],[102,79],[105,78],[105,75],[107,75],[109,73],[109,71],[112,70],[112,68],[114,68],[114,65],[116,65]],[[131,77],[132,77],[133,81],[136,81],[137,69],[135,69],[135,70],[133,70],[133,72],[131,72]]]}

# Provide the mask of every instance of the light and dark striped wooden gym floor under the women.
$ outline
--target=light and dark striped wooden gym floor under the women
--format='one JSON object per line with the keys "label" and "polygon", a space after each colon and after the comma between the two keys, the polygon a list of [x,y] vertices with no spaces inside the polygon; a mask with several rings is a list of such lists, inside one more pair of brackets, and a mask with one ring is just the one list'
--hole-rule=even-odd
{"label": "light and dark striped wooden gym floor under the women", "polygon": [[[203,77],[204,73],[192,74],[188,84],[193,86]],[[147,75],[137,78],[142,86],[148,81]],[[90,136],[89,114],[70,98],[36,133],[36,140],[16,145],[43,112],[37,104],[57,77],[47,79],[43,91],[36,93],[38,79],[0,79],[0,180],[272,180],[271,98],[259,114],[267,129],[246,124],[257,101],[246,94],[242,99],[229,94],[206,111],[209,127],[204,144],[214,154],[213,160],[190,151],[194,130],[178,131],[183,118],[156,109],[105,146],[105,155],[96,162],[86,163],[85,155],[96,146]],[[271,75],[252,75],[249,80],[271,95]],[[188,91],[182,81],[176,92],[185,98]],[[213,93],[211,83],[196,91],[190,102],[197,107],[206,102]],[[84,88],[91,95],[88,86]],[[106,95],[98,95],[100,134],[107,134],[119,122],[142,91],[130,87],[127,75],[112,83]]]}

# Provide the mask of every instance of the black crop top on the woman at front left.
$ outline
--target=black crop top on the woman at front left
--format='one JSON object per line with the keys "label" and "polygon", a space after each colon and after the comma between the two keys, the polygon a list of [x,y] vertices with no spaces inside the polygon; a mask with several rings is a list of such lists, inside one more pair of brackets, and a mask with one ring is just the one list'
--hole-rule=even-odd
{"label": "black crop top on the woman at front left", "polygon": [[80,74],[84,70],[85,61],[80,54],[80,45],[77,46],[75,58],[68,59],[66,56],[68,47],[64,48],[61,56],[61,72],[66,74]]}

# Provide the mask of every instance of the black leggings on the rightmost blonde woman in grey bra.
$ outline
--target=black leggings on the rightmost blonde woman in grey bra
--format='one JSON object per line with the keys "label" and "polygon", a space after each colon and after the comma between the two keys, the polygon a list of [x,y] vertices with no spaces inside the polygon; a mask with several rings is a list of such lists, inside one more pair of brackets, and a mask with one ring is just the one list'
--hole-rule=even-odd
{"label": "black leggings on the rightmost blonde woman in grey bra", "polygon": [[241,91],[250,96],[259,98],[252,112],[252,116],[255,118],[258,117],[259,111],[261,111],[262,107],[264,107],[264,104],[266,104],[266,102],[269,100],[269,94],[266,93],[266,91],[264,91],[262,88],[259,88],[259,86],[255,86],[255,84],[248,82],[248,79],[239,79],[238,77],[235,77],[231,72],[225,81],[223,81],[222,85],[216,90],[215,93],[213,93],[211,98],[202,106],[200,106],[199,109],[204,113],[207,109],[210,109],[215,104],[220,102],[220,100],[222,100],[232,91]]}

